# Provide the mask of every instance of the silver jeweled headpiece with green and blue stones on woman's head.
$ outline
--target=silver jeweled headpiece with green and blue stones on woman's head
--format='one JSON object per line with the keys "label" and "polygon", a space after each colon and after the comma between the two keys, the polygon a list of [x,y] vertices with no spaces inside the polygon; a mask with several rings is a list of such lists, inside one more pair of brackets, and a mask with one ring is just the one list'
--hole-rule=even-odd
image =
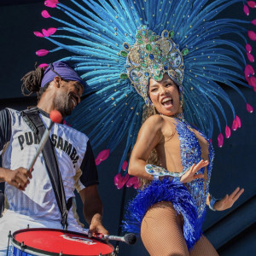
{"label": "silver jeweled headpiece with green and blue stones on woman's head", "polygon": [[126,58],[127,70],[127,73],[120,74],[120,78],[129,78],[131,85],[147,105],[150,103],[148,79],[161,81],[164,73],[168,73],[183,91],[183,55],[187,55],[189,49],[183,49],[181,52],[172,40],[173,35],[173,31],[164,30],[160,37],[147,26],[141,26],[137,31],[136,43],[132,46],[124,43],[124,50],[120,51],[120,55]]}

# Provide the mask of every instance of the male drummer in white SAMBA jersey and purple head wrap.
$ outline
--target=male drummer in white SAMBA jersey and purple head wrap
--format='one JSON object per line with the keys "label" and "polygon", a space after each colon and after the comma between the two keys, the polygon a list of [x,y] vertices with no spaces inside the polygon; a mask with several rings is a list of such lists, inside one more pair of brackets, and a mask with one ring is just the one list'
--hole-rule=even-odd
{"label": "male drummer in white SAMBA jersey and purple head wrap", "polygon": [[[84,91],[84,81],[66,62],[55,62],[45,71],[37,68],[23,77],[22,92],[38,93],[38,115],[49,126],[49,113],[56,109],[62,117],[70,115]],[[49,134],[61,172],[66,200],[77,189],[83,201],[84,218],[91,235],[108,234],[102,225],[102,201],[90,141],[68,125],[55,124]],[[43,154],[39,154],[33,171],[27,170],[38,148],[38,137],[20,112],[0,111],[0,182],[5,182],[5,212],[0,218],[0,255],[6,255],[9,230],[30,228],[62,229],[61,213],[49,179]],[[71,207],[67,230],[83,232]]]}

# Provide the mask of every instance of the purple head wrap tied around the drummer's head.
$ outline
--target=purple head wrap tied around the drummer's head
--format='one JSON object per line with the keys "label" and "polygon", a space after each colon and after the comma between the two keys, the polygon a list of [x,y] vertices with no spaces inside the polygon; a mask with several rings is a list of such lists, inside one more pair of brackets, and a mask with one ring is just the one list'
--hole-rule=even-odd
{"label": "purple head wrap tied around the drummer's head", "polygon": [[[55,71],[53,71],[53,70]],[[57,61],[52,63],[44,71],[44,78],[41,82],[41,87],[44,87],[45,84],[51,82],[55,77],[60,76],[61,79],[78,81],[80,84],[85,85],[86,83],[79,77],[79,75],[73,70],[72,67],[67,65],[65,61]]]}

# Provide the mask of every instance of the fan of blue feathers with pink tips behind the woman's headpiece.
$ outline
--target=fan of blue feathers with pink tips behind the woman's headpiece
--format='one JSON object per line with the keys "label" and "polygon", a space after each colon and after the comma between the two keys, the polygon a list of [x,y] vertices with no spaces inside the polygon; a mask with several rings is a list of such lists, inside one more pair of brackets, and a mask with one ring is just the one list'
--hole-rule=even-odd
{"label": "fan of blue feathers with pink tips behind the woman's headpiece", "polygon": [[[63,1],[64,2],[64,1]],[[254,71],[247,64],[244,55],[253,61],[251,46],[247,38],[256,40],[256,34],[247,32],[242,26],[250,21],[230,18],[218,18],[218,14],[234,3],[242,0],[70,0],[66,1],[73,8],[58,0],[47,0],[45,5],[60,9],[68,20],[42,12],[44,18],[51,18],[61,23],[58,28],[49,28],[34,32],[57,46],[55,49],[40,49],[38,55],[46,55],[59,49],[67,49],[72,56],[63,58],[85,79],[90,94],[82,101],[69,119],[79,131],[88,134],[95,148],[108,142],[108,149],[114,148],[126,138],[125,152],[120,163],[137,139],[142,125],[145,102],[131,80],[125,79],[127,61],[123,44],[133,46],[136,43],[138,27],[147,26],[156,35],[166,30],[172,32],[172,39],[179,49],[188,49],[183,55],[183,100],[184,115],[189,123],[196,125],[208,138],[212,137],[213,120],[217,122],[220,134],[218,144],[221,147],[225,131],[230,136],[228,124],[221,102],[226,102],[233,113],[233,129],[240,125],[240,119],[230,102],[230,97],[222,86],[236,90],[241,100],[247,104],[247,110],[253,108],[246,102],[237,84],[256,88]],[[247,4],[253,7],[253,1]],[[247,5],[244,12],[248,13]],[[255,20],[252,21],[256,25]],[[222,36],[236,35],[225,39]],[[61,43],[65,39],[65,43]],[[68,43],[67,43],[68,42]],[[244,49],[246,45],[246,49]],[[246,79],[244,73],[246,74]],[[123,74],[124,77],[120,77]],[[248,84],[247,84],[248,83]],[[222,118],[219,114],[222,114]],[[221,120],[224,120],[224,125]],[[107,150],[107,154],[109,153]],[[104,157],[104,156],[102,156]]]}

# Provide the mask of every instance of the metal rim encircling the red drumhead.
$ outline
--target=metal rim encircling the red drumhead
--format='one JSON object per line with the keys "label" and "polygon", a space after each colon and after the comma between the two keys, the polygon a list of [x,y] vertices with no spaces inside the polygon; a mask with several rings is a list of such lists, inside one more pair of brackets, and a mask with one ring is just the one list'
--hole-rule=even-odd
{"label": "metal rim encircling the red drumhead", "polygon": [[[75,232],[75,231],[69,231],[69,230],[58,230],[58,229],[49,229],[49,228],[29,228],[29,229],[23,229],[23,230],[16,230],[11,238],[10,238],[10,241],[11,241],[11,244],[16,247],[17,249],[19,249],[21,251],[21,242],[20,241],[17,241],[15,240],[15,235],[21,233],[21,232],[26,232],[26,231],[38,231],[38,230],[49,230],[49,231],[62,231],[62,232],[67,232],[67,234],[72,234],[72,235],[86,235],[86,234],[83,234],[83,233],[79,233],[79,232]],[[109,243],[108,241],[103,241],[102,239],[100,238],[97,238],[97,237],[92,237],[93,239],[95,239],[96,241],[100,241],[102,243],[105,243],[107,244],[109,247],[111,247],[114,251],[114,247],[111,243]],[[34,255],[37,255],[37,256],[45,256],[45,255],[49,255],[49,256],[59,256],[60,253],[51,253],[51,252],[47,252],[47,251],[44,251],[44,250],[41,250],[41,249],[38,249],[38,248],[35,248],[35,247],[29,247],[29,246],[26,246],[24,245],[24,248],[22,249],[23,252],[25,253],[32,253]],[[113,252],[112,252],[113,253]],[[81,256],[81,255],[76,255],[76,254],[64,254],[62,253],[61,255],[63,256]],[[102,256],[104,255],[108,255],[108,254],[102,254]],[[94,256],[94,255],[91,255],[91,256]],[[95,255],[97,256],[97,255]]]}

